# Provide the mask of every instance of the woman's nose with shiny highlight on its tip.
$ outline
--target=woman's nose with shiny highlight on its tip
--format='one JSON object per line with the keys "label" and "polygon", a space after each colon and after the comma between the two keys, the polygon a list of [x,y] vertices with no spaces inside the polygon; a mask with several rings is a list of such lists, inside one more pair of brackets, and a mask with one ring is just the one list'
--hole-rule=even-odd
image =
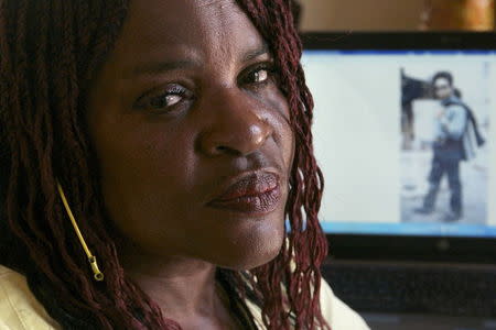
{"label": "woman's nose with shiny highlight on its tip", "polygon": [[[206,106],[206,105],[205,105]],[[201,134],[200,145],[208,156],[248,155],[259,150],[272,135],[273,128],[261,117],[263,109],[241,90],[227,90],[204,109],[211,118]]]}

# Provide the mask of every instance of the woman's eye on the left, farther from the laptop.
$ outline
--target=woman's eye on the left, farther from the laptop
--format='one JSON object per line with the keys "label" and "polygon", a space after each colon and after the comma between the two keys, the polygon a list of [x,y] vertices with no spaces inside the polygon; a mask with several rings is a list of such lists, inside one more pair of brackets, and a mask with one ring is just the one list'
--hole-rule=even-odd
{"label": "woman's eye on the left, farther from the laptop", "polygon": [[140,109],[165,110],[181,103],[187,98],[190,98],[190,94],[185,88],[173,86],[139,98],[136,107]]}

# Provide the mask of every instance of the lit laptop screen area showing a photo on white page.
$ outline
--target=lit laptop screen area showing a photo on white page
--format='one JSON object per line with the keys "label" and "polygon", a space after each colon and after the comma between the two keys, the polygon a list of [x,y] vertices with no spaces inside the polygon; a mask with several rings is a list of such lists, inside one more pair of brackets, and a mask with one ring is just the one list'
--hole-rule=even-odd
{"label": "lit laptop screen area showing a photo on white page", "polygon": [[306,50],[327,233],[496,238],[496,52]]}

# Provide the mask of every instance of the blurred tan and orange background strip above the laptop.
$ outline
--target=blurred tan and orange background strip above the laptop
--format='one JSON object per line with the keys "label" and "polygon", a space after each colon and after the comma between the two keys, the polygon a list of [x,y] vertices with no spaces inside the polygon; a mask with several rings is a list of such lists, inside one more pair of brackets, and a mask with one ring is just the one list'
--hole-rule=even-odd
{"label": "blurred tan and orange background strip above the laptop", "polygon": [[308,31],[494,30],[494,0],[300,0]]}

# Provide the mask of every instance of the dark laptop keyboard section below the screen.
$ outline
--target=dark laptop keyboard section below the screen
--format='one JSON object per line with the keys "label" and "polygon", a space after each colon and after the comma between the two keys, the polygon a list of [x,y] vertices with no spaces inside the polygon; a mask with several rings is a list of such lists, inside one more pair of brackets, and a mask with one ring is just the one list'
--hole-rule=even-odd
{"label": "dark laptop keyboard section below the screen", "polygon": [[330,261],[323,276],[359,311],[496,317],[495,265]]}

